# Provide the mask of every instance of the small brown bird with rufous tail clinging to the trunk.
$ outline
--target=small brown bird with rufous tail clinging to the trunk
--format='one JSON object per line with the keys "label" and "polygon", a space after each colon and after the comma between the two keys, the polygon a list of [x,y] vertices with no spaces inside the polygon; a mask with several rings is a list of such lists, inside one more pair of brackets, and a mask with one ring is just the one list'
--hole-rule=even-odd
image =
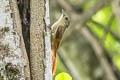
{"label": "small brown bird with rufous tail clinging to the trunk", "polygon": [[69,26],[68,16],[63,12],[60,19],[53,24],[52,30],[52,74],[56,72],[56,52],[62,41],[63,34],[66,28]]}

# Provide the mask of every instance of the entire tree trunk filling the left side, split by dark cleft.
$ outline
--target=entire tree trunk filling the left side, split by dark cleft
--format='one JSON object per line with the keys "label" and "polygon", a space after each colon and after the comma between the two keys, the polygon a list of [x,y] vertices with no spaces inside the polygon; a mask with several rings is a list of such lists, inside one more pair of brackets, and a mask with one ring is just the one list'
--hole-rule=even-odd
{"label": "entire tree trunk filling the left side, split by dark cleft", "polygon": [[52,80],[49,24],[49,0],[0,0],[0,80]]}

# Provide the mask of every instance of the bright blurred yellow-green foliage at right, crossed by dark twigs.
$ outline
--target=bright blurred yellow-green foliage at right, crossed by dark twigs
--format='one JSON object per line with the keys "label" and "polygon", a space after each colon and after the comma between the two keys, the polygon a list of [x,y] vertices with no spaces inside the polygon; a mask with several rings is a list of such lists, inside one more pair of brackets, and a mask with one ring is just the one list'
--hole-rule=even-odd
{"label": "bright blurred yellow-green foliage at right, crossed by dark twigs", "polygon": [[[103,28],[100,28],[100,25],[96,25],[92,21],[89,21],[87,23],[87,25],[90,27],[92,32],[99,38],[99,40],[102,39],[105,34],[104,27],[108,27],[118,37],[120,36],[118,31],[119,26],[116,18],[113,18],[111,25],[107,26],[107,24],[109,24],[109,20],[112,14],[112,8],[109,5],[98,11],[92,17],[92,20],[96,21],[99,24],[102,24]],[[120,69],[120,40],[116,40],[113,35],[108,32],[105,36],[104,47],[110,53],[109,55],[112,57],[114,64]]]}

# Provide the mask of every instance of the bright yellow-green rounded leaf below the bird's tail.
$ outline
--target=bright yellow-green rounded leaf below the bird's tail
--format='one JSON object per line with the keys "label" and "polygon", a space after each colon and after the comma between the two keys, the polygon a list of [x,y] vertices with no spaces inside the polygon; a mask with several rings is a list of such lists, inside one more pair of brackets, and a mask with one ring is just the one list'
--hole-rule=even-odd
{"label": "bright yellow-green rounded leaf below the bird's tail", "polygon": [[55,80],[72,80],[72,77],[68,73],[62,72],[55,77]]}

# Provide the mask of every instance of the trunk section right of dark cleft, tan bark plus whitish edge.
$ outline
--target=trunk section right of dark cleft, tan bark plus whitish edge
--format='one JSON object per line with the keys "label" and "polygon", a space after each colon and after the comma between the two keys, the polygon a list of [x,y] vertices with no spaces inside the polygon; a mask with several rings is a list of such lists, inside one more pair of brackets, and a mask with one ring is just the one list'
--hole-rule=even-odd
{"label": "trunk section right of dark cleft, tan bark plus whitish edge", "polygon": [[52,79],[50,33],[46,27],[50,24],[49,15],[47,15],[47,12],[49,12],[47,1],[31,0],[30,2],[30,66],[32,80]]}

